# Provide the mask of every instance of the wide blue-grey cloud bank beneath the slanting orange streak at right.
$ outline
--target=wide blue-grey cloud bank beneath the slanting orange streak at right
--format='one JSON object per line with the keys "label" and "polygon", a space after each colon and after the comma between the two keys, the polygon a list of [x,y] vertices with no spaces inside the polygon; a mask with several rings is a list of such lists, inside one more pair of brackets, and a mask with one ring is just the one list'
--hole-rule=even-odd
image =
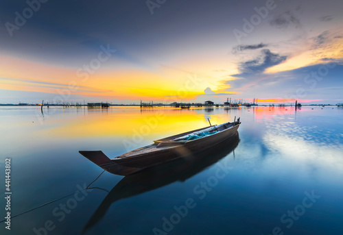
{"label": "wide blue-grey cloud bank beneath the slanting orange streak at right", "polygon": [[[305,66],[302,68],[281,71],[272,74],[247,74],[241,79],[227,81],[230,88],[242,92],[248,97],[281,97],[283,99],[299,99],[297,90],[305,91],[306,97],[301,99],[341,99],[343,88],[343,64],[328,66],[327,60],[323,63]],[[334,60],[334,59],[332,59]],[[338,62],[340,59],[336,59]],[[327,68],[328,71],[322,69]],[[316,76],[320,77],[319,79]],[[244,97],[242,97],[244,98]]]}

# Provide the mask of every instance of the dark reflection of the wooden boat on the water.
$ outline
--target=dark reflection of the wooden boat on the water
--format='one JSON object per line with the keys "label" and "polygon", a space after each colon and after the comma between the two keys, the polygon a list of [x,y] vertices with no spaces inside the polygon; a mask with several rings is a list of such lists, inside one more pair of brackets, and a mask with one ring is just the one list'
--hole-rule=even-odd
{"label": "dark reflection of the wooden boat on the water", "polygon": [[229,153],[234,151],[238,143],[239,134],[236,132],[230,138],[202,151],[202,153],[187,156],[187,158],[178,158],[167,164],[154,166],[137,174],[124,177],[110,190],[100,206],[95,210],[91,219],[84,226],[82,234],[99,222],[115,201],[155,190],[176,181],[184,182],[228,156]]}

